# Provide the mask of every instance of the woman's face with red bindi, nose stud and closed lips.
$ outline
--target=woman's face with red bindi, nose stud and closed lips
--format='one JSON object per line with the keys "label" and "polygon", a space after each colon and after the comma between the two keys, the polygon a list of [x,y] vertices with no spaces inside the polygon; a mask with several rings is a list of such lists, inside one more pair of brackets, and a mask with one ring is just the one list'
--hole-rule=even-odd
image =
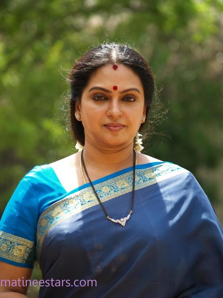
{"label": "woman's face with red bindi, nose stud and closed lips", "polygon": [[76,103],[75,115],[81,114],[85,143],[110,150],[133,143],[145,111],[144,90],[138,75],[123,64],[115,70],[107,64],[91,76],[81,102]]}

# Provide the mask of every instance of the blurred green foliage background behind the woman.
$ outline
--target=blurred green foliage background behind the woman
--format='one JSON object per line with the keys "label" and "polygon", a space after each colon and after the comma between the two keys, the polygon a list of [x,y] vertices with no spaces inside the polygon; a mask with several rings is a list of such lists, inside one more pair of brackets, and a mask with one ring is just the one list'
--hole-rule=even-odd
{"label": "blurred green foliage background behind the woman", "polygon": [[65,77],[89,48],[115,41],[146,58],[169,110],[143,153],[191,171],[223,225],[222,29],[223,0],[1,0],[1,214],[35,165],[76,152]]}

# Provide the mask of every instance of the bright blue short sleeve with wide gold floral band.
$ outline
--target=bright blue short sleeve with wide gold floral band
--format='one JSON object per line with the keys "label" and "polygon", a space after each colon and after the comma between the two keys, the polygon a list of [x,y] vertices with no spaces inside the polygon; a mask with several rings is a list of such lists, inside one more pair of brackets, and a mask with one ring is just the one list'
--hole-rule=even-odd
{"label": "bright blue short sleeve with wide gold floral band", "polygon": [[12,194],[0,221],[0,260],[34,268],[38,207],[32,185],[25,177]]}

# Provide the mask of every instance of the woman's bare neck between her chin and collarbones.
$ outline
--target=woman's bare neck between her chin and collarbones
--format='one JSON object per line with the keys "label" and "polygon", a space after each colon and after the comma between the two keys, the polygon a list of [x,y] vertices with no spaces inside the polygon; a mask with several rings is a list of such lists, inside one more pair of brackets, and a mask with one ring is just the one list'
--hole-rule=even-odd
{"label": "woman's bare neck between her chin and collarbones", "polygon": [[86,167],[98,170],[119,170],[133,166],[133,142],[124,148],[101,149],[87,140],[83,151]]}

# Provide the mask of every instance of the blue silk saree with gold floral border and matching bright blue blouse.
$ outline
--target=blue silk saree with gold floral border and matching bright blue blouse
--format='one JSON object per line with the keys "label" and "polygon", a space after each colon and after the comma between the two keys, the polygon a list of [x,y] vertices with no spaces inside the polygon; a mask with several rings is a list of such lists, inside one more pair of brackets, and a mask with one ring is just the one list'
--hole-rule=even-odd
{"label": "blue silk saree with gold floral border and matching bright blue blouse", "polygon": [[[131,209],[133,167],[92,181],[110,218]],[[133,213],[108,220],[89,183],[69,193],[48,164],[18,184],[0,222],[0,260],[43,280],[39,297],[223,297],[223,232],[194,176],[170,162],[136,165]]]}

